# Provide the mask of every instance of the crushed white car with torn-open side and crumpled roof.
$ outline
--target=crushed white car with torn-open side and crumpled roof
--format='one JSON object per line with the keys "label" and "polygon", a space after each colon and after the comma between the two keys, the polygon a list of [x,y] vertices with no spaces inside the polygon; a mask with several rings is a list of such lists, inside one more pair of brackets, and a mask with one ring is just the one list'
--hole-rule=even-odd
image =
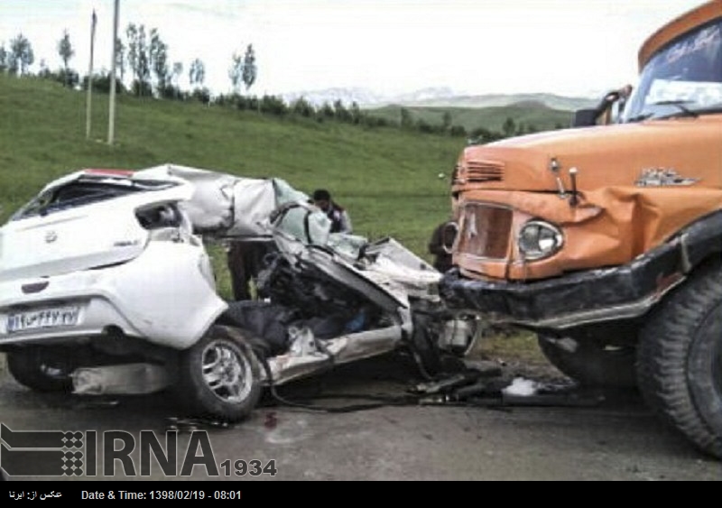
{"label": "crushed white car with torn-open side and crumpled roof", "polygon": [[[0,228],[0,351],[39,391],[169,389],[242,420],[264,386],[406,347],[427,377],[477,319],[440,273],[387,238],[329,234],[283,180],[176,165],[53,181]],[[273,241],[258,300],[226,301],[203,239]]]}

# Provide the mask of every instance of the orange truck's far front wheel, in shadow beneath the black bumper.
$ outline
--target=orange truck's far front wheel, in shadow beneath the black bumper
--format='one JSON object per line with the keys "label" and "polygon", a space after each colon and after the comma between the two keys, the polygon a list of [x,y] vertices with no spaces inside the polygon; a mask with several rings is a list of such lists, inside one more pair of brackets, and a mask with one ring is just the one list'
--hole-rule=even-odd
{"label": "orange truck's far front wheel, in shadow beneath the black bumper", "polygon": [[538,336],[542,353],[551,365],[563,374],[585,386],[634,388],[635,348],[632,346],[606,346],[595,340],[579,340],[571,344],[571,351],[561,341]]}

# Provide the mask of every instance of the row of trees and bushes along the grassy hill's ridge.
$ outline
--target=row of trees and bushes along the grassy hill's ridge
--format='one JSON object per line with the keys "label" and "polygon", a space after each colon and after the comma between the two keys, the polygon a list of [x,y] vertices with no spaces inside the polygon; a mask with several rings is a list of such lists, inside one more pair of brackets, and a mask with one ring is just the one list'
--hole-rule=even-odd
{"label": "row of trees and bushes along the grassy hill's ridge", "polygon": [[[157,29],[146,30],[143,24],[129,23],[125,29],[125,41],[116,40],[116,90],[118,93],[133,94],[136,97],[155,97],[173,100],[198,100],[205,104],[234,107],[238,110],[256,111],[261,114],[280,117],[300,117],[317,122],[327,120],[338,121],[351,125],[366,127],[398,127],[425,134],[443,134],[467,137],[469,143],[490,143],[505,137],[537,132],[534,125],[517,124],[511,117],[506,118],[501,132],[486,127],[477,127],[467,131],[463,125],[453,125],[450,112],[445,112],[440,124],[430,124],[418,118],[414,119],[412,111],[401,108],[398,121],[363,111],[356,102],[346,106],[336,100],[332,104],[324,103],[314,106],[306,98],[300,97],[290,104],[282,97],[255,97],[248,94],[258,74],[256,55],[253,44],[248,44],[245,52],[236,51],[228,69],[233,92],[228,95],[212,97],[210,90],[204,86],[206,66],[196,58],[190,61],[187,69],[190,90],[180,87],[180,78],[185,67],[181,61],[169,60],[168,44],[162,41]],[[41,60],[38,76],[42,79],[53,79],[69,88],[88,88],[88,76],[82,79],[78,71],[72,69],[70,62],[75,56],[75,49],[70,41],[68,31],[63,31],[57,43],[57,51],[62,60],[60,69],[51,70]],[[35,61],[31,42],[19,33],[5,48],[0,44],[0,72],[14,76],[30,75],[30,67]],[[130,85],[125,87],[126,73]],[[100,92],[107,93],[110,89],[110,72],[103,70],[92,77],[92,86]],[[245,94],[241,92],[244,91]],[[557,125],[555,128],[563,128]]]}

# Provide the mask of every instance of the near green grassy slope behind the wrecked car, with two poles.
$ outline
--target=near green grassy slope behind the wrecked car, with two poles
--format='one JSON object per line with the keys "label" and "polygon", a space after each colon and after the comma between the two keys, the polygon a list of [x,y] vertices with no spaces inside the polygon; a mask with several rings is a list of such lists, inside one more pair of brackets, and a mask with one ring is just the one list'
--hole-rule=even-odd
{"label": "near green grassy slope behind the wrecked car, with two poles", "polygon": [[449,213],[449,182],[437,175],[450,173],[463,139],[120,96],[111,147],[107,97],[93,97],[88,141],[85,93],[0,76],[0,222],[70,171],[166,162],[279,177],[308,193],[327,187],[357,234],[393,236],[422,255]]}

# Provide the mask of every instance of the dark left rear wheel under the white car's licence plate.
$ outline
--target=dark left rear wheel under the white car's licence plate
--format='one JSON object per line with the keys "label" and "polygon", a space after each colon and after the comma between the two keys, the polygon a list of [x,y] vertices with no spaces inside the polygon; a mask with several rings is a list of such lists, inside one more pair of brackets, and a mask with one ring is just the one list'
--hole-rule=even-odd
{"label": "dark left rear wheel under the white car's licence plate", "polygon": [[73,362],[50,347],[26,347],[7,354],[7,370],[18,383],[36,392],[70,392]]}

